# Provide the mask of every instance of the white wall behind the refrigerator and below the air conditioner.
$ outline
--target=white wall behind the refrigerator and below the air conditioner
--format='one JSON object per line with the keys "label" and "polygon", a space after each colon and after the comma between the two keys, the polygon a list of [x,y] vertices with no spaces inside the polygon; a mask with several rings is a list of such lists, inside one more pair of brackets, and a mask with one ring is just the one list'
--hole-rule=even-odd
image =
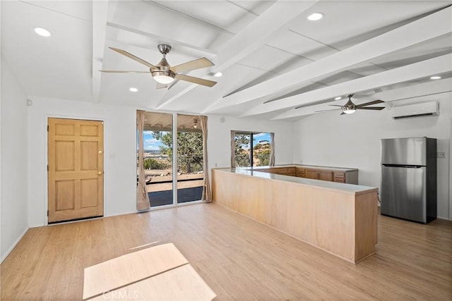
{"label": "white wall behind the refrigerator and below the air conditioner", "polygon": [[[393,137],[436,138],[438,152],[438,217],[452,219],[449,207],[449,149],[452,93],[410,99],[411,103],[439,101],[440,116],[395,120],[389,110],[357,111],[340,116],[337,111],[307,116],[294,123],[295,163],[359,168],[359,184],[379,187],[381,180],[380,139]],[[409,103],[405,101],[405,103]],[[403,102],[399,102],[403,104]]]}

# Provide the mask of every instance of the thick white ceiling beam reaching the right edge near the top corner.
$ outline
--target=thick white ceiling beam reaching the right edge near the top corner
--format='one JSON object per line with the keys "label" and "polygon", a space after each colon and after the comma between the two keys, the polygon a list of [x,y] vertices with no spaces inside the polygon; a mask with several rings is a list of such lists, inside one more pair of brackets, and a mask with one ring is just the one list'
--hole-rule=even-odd
{"label": "thick white ceiling beam reaching the right edge near the top corner", "polygon": [[[393,51],[446,35],[452,32],[451,14],[452,8],[449,6],[319,61],[314,61],[306,66],[224,97],[203,113],[212,113],[227,106],[244,104],[262,97],[268,97],[268,95],[292,92],[312,79],[346,70],[346,68],[358,63],[370,61]],[[280,102],[280,100],[277,102]]]}

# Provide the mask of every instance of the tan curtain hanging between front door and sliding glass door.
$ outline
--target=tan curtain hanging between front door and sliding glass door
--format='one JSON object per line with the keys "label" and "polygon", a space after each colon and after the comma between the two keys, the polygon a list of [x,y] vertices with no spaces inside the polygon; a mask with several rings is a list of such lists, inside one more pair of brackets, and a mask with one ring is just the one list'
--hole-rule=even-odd
{"label": "tan curtain hanging between front door and sliding glass door", "polygon": [[143,129],[145,111],[136,111],[136,132],[138,133],[138,183],[136,185],[136,209],[143,211],[150,209],[150,200],[146,191],[144,176],[144,146]]}

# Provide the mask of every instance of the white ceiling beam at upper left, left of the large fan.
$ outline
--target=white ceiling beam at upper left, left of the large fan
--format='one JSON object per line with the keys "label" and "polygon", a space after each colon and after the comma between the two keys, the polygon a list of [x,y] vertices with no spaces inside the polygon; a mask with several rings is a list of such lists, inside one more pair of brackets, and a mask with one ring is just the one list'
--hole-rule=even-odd
{"label": "white ceiling beam at upper left, left of the large fan", "polygon": [[107,14],[109,1],[93,1],[93,102],[99,102],[102,58],[105,50],[105,32],[107,30]]}

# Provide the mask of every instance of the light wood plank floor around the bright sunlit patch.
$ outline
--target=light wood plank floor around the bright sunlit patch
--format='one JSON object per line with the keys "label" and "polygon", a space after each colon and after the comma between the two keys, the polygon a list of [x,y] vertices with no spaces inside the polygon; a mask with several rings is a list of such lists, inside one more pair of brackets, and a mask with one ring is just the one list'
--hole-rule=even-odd
{"label": "light wood plank floor around the bright sunlit patch", "polygon": [[379,216],[357,265],[218,204],[31,228],[1,264],[1,300],[81,300],[83,269],[173,242],[216,300],[452,300],[452,222]]}

